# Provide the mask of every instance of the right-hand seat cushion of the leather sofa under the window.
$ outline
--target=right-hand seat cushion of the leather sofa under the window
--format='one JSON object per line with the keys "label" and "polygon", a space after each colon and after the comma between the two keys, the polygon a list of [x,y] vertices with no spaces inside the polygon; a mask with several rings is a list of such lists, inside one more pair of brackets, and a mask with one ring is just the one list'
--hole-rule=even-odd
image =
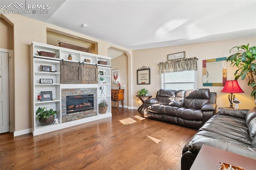
{"label": "right-hand seat cushion of the leather sofa under the window", "polygon": [[203,120],[203,113],[201,110],[186,109],[184,107],[177,109],[176,116],[182,119],[191,120],[191,121]]}

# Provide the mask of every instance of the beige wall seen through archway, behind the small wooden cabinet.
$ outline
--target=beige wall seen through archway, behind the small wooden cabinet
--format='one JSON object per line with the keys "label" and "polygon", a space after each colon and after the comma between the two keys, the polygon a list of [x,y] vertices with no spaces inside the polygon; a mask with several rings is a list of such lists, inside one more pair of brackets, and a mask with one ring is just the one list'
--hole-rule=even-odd
{"label": "beige wall seen through archway, behind the small wooden cabinet", "polygon": [[[111,60],[111,70],[115,69],[119,69],[120,71],[121,88],[124,89],[124,105],[128,106],[128,56],[126,53]],[[124,87],[124,85],[126,85],[126,87]],[[118,84],[111,84],[111,89],[118,88]]]}

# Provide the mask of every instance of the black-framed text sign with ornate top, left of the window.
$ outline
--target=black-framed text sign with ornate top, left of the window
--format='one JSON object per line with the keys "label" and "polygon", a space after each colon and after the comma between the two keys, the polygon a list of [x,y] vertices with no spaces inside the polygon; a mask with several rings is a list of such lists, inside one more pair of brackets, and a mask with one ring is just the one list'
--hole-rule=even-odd
{"label": "black-framed text sign with ornate top, left of the window", "polygon": [[142,66],[137,70],[137,85],[150,85],[150,68]]}

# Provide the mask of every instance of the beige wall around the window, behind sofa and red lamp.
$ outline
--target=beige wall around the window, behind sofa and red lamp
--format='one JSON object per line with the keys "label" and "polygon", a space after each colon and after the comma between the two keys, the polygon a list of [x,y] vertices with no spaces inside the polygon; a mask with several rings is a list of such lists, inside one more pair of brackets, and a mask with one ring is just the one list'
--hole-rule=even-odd
{"label": "beige wall around the window, behind sofa and red lamp", "polygon": [[[160,89],[160,74],[158,69],[158,63],[167,61],[167,55],[171,53],[178,53],[186,51],[186,58],[197,57],[198,58],[198,71],[196,71],[196,88],[209,88],[210,91],[217,93],[217,105],[218,107],[229,107],[228,93],[220,93],[223,87],[207,87],[203,86],[202,83],[202,60],[213,59],[219,57],[228,57],[229,51],[234,46],[247,45],[250,47],[256,45],[256,37],[254,38],[243,38],[234,39],[218,42],[207,42],[207,43],[195,43],[188,45],[177,45],[171,47],[161,47],[153,49],[142,49],[132,51],[133,60],[133,106],[136,107],[135,96],[138,91],[142,88],[146,88],[149,91],[149,95],[156,96],[156,92]],[[234,51],[236,52],[236,51]],[[151,84],[150,85],[137,85],[136,84],[136,70],[142,65],[150,67],[151,73]],[[227,80],[234,80],[234,72],[237,68],[230,67],[230,62],[227,64]],[[250,97],[252,88],[247,85],[248,78],[246,81],[238,80],[240,87],[245,93],[235,94],[239,101],[242,103],[239,106],[240,109],[251,109],[255,106],[254,98]]]}

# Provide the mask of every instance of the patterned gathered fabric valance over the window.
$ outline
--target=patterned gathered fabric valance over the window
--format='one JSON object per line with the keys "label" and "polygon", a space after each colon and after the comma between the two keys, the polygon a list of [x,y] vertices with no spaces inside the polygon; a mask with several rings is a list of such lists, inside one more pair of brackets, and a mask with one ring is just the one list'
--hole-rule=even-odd
{"label": "patterned gathered fabric valance over the window", "polygon": [[197,58],[184,58],[159,63],[159,73],[197,70]]}

